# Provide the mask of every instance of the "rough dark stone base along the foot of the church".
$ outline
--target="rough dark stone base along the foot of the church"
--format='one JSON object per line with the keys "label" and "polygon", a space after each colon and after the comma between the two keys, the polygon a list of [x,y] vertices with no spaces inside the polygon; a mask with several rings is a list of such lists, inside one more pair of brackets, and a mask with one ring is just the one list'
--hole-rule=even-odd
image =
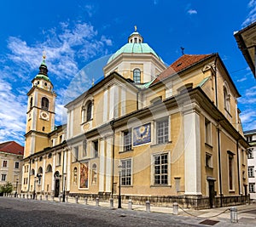
{"label": "rough dark stone base along the foot of the church", "polygon": [[[69,196],[87,197],[89,200],[95,200],[96,197],[100,201],[109,201],[112,197],[109,193],[99,194],[82,194],[69,193]],[[173,202],[177,202],[180,207],[193,208],[195,210],[208,209],[213,207],[232,207],[247,204],[250,201],[249,196],[215,196],[213,206],[210,206],[209,197],[207,196],[129,196],[122,195],[122,203],[128,203],[129,199],[133,204],[145,205],[146,201],[157,207],[172,207]],[[113,195],[114,200],[118,200],[118,195]]]}

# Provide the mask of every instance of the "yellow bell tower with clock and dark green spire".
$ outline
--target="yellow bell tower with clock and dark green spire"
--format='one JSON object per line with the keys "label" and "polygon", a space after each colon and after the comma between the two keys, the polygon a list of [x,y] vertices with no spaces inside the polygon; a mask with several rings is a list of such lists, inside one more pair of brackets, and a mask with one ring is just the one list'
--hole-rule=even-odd
{"label": "yellow bell tower with clock and dark green spire", "polygon": [[43,54],[38,75],[32,79],[32,88],[27,93],[24,157],[48,147],[48,133],[55,129],[56,94],[48,77],[45,59]]}

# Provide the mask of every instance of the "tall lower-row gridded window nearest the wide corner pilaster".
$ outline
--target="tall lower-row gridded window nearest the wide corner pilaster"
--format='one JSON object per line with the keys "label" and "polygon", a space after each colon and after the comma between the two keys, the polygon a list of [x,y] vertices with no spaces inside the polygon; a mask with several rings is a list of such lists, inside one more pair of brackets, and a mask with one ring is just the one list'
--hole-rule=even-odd
{"label": "tall lower-row gridded window nearest the wide corner pilaster", "polygon": [[168,184],[168,154],[154,156],[154,184]]}

